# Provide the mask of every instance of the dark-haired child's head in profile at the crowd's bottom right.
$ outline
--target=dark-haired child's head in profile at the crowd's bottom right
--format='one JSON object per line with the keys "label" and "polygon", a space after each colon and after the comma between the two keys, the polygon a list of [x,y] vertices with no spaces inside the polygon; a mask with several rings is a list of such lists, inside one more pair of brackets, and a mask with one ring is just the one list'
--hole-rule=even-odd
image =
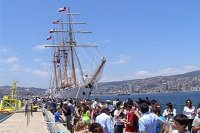
{"label": "dark-haired child's head in profile at the crowd's bottom right", "polygon": [[173,126],[175,127],[176,130],[173,130],[172,133],[190,133],[186,129],[188,126],[189,120],[186,115],[184,114],[178,114],[174,117],[174,122]]}

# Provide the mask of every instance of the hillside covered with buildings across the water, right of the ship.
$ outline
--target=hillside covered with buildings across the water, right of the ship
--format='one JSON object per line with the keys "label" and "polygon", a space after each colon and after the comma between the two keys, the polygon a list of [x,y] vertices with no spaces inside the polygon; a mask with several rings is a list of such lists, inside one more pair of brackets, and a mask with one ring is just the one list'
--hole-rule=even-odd
{"label": "hillside covered with buildings across the water, right of the ship", "polygon": [[97,93],[155,93],[190,91],[200,88],[200,70],[172,76],[156,76],[145,79],[104,82],[98,84]]}

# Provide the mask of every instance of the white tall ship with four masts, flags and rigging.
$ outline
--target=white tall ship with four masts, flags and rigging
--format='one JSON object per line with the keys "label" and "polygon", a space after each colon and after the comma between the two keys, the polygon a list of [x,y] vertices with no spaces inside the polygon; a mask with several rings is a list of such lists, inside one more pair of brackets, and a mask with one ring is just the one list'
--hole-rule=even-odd
{"label": "white tall ship with four masts, flags and rigging", "polygon": [[46,45],[52,53],[49,94],[62,99],[89,98],[97,89],[106,59],[87,38],[92,32],[80,30],[86,23],[75,19],[79,13],[72,13],[69,7],[58,12],[60,19],[53,21]]}

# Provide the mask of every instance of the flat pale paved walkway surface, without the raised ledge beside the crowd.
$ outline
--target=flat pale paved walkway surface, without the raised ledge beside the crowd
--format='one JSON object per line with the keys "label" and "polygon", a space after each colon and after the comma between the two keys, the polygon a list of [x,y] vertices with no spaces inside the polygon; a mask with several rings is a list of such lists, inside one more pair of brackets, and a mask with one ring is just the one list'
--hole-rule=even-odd
{"label": "flat pale paved walkway surface, without the raised ledge beside the crowd", "polygon": [[24,113],[15,113],[0,123],[0,133],[49,133],[42,112],[33,112],[33,116],[28,116],[27,119]]}

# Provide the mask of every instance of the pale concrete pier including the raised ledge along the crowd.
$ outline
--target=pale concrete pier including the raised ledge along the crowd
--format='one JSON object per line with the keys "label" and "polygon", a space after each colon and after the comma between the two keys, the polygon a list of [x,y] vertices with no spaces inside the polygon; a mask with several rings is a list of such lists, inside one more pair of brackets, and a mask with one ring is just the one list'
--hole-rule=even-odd
{"label": "pale concrete pier including the raised ledge along the crowd", "polygon": [[53,120],[54,115],[49,111],[45,116],[42,111],[26,116],[24,112],[14,113],[0,123],[0,133],[69,133],[62,123],[54,123]]}

